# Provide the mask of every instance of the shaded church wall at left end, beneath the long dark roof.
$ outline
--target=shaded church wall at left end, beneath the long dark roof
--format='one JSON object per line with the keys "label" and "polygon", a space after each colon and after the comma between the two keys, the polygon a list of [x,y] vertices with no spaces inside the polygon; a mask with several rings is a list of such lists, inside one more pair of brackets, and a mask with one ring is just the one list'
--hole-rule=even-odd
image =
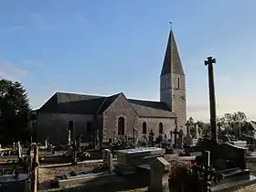
{"label": "shaded church wall at left end, beneath the long dark roof", "polygon": [[[38,113],[37,114],[37,142],[55,144],[67,143],[69,121],[73,121],[75,138],[82,134],[88,135],[89,123],[93,124],[93,115],[68,114],[68,113]],[[91,126],[91,125],[90,125]],[[93,127],[93,126],[92,126]]]}

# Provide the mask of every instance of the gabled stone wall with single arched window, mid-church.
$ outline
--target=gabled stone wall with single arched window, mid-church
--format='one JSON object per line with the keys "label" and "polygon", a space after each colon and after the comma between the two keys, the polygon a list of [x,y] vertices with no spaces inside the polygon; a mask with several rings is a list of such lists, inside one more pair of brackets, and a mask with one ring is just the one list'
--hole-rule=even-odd
{"label": "gabled stone wall with single arched window, mid-church", "polygon": [[124,134],[133,136],[133,128],[137,124],[137,114],[130,102],[123,94],[120,94],[115,101],[103,112],[103,142],[108,142],[109,138],[113,142],[120,137],[118,135],[118,120],[124,119]]}

